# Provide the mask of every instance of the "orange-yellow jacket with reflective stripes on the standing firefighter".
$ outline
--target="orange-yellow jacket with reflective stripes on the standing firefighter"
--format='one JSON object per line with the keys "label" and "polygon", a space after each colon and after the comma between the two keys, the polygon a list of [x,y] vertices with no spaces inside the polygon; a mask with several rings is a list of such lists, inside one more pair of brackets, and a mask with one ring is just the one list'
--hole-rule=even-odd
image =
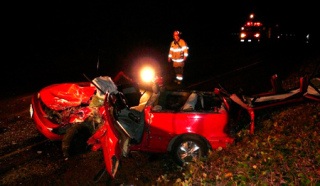
{"label": "orange-yellow jacket with reflective stripes on the standing firefighter", "polygon": [[189,47],[183,39],[172,41],[168,57],[171,58],[173,62],[184,62],[184,57],[188,57],[189,55],[188,50]]}

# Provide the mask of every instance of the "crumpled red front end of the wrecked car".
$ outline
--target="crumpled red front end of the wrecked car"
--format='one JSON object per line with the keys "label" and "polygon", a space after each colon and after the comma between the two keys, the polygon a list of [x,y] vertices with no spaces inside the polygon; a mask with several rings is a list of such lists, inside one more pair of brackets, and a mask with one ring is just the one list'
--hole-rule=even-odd
{"label": "crumpled red front end of the wrecked car", "polygon": [[[121,75],[119,73],[119,77]],[[103,82],[103,78],[109,77],[97,77],[94,81]],[[125,93],[128,105],[139,103],[141,94],[135,83],[112,86],[107,88],[120,89]],[[36,128],[46,138],[62,141],[65,156],[70,152],[85,152],[87,139],[102,122],[105,95],[99,95],[97,90],[90,81],[68,82],[44,87],[32,97],[30,115]]]}

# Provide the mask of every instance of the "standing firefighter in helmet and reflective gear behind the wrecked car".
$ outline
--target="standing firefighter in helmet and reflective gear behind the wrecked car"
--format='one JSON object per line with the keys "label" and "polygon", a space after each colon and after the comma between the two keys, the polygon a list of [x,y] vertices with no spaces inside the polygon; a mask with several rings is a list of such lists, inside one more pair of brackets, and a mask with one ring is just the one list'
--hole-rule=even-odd
{"label": "standing firefighter in helmet and reflective gear behind the wrecked car", "polygon": [[170,44],[168,62],[173,62],[173,68],[176,74],[175,82],[181,84],[183,80],[183,67],[189,55],[189,47],[187,43],[180,38],[181,32],[176,30],[173,32],[173,41]]}

